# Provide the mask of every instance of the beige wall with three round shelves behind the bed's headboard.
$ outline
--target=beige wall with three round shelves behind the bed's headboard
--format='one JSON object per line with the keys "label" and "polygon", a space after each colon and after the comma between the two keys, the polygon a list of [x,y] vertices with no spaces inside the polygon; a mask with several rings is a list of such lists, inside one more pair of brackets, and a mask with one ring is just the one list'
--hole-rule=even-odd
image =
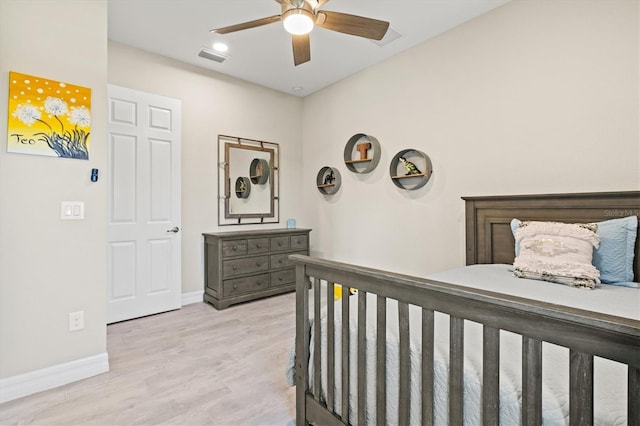
{"label": "beige wall with three round shelves behind the bed's headboard", "polygon": [[[461,196],[638,189],[638,33],[637,1],[515,0],[306,97],[315,254],[424,275],[464,264]],[[342,161],[356,133],[382,146],[370,175]],[[433,162],[417,191],[389,179],[407,148]]]}

